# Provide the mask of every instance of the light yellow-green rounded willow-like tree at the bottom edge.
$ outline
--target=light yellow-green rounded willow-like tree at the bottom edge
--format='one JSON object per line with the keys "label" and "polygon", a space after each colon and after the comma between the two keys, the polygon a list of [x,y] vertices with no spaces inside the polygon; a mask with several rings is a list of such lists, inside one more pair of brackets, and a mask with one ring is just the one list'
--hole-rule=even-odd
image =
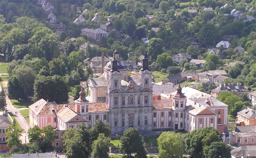
{"label": "light yellow-green rounded willow-like tree at the bottom edge", "polygon": [[158,138],[159,157],[161,158],[182,158],[183,138],[175,132],[163,132]]}

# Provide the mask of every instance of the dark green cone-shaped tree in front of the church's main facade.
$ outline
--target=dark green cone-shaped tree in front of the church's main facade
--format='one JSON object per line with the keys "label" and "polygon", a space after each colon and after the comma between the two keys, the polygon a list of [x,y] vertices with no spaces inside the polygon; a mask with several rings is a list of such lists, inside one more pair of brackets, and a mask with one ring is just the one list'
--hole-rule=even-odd
{"label": "dark green cone-shaped tree in front of the church's main facade", "polygon": [[130,127],[124,131],[124,136],[121,137],[121,147],[120,152],[127,154],[131,157],[134,152],[140,158],[147,158],[147,150],[143,146],[142,137],[138,133],[138,130],[134,127]]}

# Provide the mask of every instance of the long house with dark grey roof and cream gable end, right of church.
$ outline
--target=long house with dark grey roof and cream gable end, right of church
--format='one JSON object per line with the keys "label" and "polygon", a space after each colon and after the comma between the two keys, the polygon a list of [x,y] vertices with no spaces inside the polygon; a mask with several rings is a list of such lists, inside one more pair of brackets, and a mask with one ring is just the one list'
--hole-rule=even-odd
{"label": "long house with dark grey roof and cream gable end, right of church", "polygon": [[219,87],[211,90],[211,95],[214,97],[218,97],[218,95],[223,91],[230,91],[235,95],[241,95],[245,93],[247,97],[249,97],[250,91],[245,86],[242,86],[241,83],[227,83],[227,84],[220,84]]}

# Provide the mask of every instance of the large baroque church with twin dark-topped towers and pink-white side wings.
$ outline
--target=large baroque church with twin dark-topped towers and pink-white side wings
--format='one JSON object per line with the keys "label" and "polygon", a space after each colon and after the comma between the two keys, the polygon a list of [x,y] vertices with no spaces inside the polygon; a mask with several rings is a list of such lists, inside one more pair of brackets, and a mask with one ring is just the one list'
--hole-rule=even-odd
{"label": "large baroque church with twin dark-topped towers and pink-white side wings", "polygon": [[41,99],[30,105],[30,125],[43,128],[50,124],[63,134],[66,129],[78,127],[82,122],[92,128],[99,119],[110,124],[113,134],[121,134],[129,127],[135,127],[139,132],[154,129],[190,132],[206,126],[227,133],[228,105],[209,94],[179,85],[172,87],[173,91],[161,91],[154,97],[156,88],[166,85],[152,82],[147,54],[138,74],[128,73],[117,50],[102,70],[100,77],[89,77],[88,96],[85,97],[81,90],[74,104],[57,105]]}

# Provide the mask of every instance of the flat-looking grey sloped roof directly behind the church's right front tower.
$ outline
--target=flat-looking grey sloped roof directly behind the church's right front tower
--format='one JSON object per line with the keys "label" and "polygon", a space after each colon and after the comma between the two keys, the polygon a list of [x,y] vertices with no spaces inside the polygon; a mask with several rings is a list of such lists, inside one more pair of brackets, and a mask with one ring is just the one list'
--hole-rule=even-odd
{"label": "flat-looking grey sloped roof directly behind the church's right front tower", "polygon": [[172,85],[153,85],[153,95],[170,94],[177,91],[176,86]]}

